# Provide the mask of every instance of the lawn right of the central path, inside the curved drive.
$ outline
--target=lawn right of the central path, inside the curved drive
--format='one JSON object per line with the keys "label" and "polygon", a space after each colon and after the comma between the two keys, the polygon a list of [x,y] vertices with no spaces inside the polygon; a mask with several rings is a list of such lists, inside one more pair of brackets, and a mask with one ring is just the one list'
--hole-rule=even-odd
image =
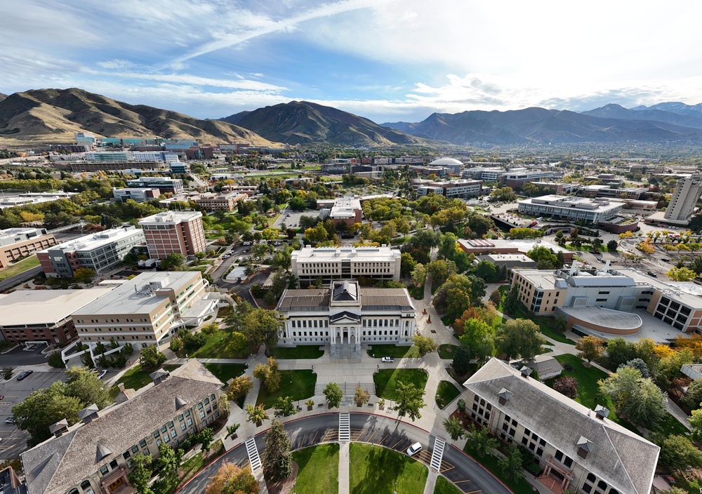
{"label": "lawn right of the central path, inside the curved drive", "polygon": [[420,494],[424,492],[429,474],[423,463],[409,456],[361,443],[350,445],[349,469],[351,494],[392,493],[393,490]]}

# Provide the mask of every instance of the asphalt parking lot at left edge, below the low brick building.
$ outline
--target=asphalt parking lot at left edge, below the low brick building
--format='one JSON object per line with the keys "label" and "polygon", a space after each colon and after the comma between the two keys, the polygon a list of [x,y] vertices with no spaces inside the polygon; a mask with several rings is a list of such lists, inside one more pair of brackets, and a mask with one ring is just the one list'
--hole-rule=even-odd
{"label": "asphalt parking lot at left edge, below the low brick building", "polygon": [[34,373],[22,381],[17,380],[19,372],[15,372],[12,379],[0,382],[0,461],[8,458],[19,458],[24,451],[29,434],[20,431],[15,425],[6,424],[5,420],[12,416],[12,407],[24,401],[27,396],[37,389],[51,386],[55,381],[65,380],[62,370],[34,370]]}

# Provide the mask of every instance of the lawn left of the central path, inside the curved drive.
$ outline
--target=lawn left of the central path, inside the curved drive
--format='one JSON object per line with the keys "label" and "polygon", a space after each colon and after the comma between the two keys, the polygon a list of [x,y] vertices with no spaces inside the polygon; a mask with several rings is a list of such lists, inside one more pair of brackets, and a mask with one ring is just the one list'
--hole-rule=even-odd
{"label": "lawn left of the central path, inside the curved drive", "polygon": [[300,468],[295,482],[298,494],[339,492],[339,445],[320,444],[293,453]]}

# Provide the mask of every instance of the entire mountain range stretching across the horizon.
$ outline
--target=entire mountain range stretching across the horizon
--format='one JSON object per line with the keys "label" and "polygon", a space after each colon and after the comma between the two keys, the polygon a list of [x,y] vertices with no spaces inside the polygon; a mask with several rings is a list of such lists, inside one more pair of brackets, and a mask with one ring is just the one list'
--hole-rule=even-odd
{"label": "entire mountain range stretching across the horizon", "polygon": [[378,125],[362,116],[305,101],[239,112],[221,119],[130,105],[77,88],[0,93],[0,144],[74,142],[88,131],[110,137],[193,138],[279,146],[436,144],[524,145],[569,142],[702,143],[702,104],[605,105],[588,112],[538,107],[500,112],[434,113],[420,122]]}

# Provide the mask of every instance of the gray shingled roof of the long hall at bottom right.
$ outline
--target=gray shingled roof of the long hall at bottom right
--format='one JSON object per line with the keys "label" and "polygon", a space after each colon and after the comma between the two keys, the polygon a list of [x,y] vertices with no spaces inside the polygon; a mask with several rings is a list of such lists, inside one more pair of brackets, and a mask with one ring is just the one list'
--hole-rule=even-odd
{"label": "gray shingled roof of the long hall at bottom right", "polygon": [[[660,448],[609,419],[600,420],[589,408],[518,370],[491,359],[465,382],[472,392],[535,431],[589,472],[620,493],[649,494]],[[498,394],[508,389],[509,401]],[[589,441],[592,453],[578,456],[578,442]],[[590,445],[591,443],[591,445]]]}

